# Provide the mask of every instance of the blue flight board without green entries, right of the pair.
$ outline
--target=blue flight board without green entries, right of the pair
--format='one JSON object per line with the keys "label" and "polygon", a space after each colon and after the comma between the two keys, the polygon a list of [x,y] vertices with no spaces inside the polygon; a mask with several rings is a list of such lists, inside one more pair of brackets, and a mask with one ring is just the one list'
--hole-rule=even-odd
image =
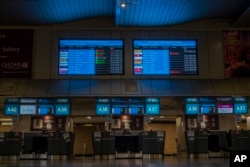
{"label": "blue flight board without green entries, right of the pair", "polygon": [[134,75],[197,75],[196,40],[134,40]]}

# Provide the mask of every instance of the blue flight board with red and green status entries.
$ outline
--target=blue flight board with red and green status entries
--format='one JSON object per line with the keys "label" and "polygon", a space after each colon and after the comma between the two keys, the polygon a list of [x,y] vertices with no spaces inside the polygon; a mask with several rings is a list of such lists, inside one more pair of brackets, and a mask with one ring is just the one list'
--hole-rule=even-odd
{"label": "blue flight board with red and green status entries", "polygon": [[60,39],[59,75],[124,74],[123,40]]}

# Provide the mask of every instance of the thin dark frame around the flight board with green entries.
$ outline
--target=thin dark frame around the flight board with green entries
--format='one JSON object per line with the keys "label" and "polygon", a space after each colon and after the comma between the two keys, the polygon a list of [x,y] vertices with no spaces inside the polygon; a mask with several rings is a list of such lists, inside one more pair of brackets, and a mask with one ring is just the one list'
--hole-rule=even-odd
{"label": "thin dark frame around the flight board with green entries", "polygon": [[[60,74],[59,61],[60,61],[60,41],[61,40],[82,40],[82,41],[120,41],[122,42],[122,73],[109,73],[109,74]],[[58,50],[57,50],[57,75],[63,76],[103,76],[103,75],[124,75],[125,74],[125,41],[121,38],[58,38]]]}

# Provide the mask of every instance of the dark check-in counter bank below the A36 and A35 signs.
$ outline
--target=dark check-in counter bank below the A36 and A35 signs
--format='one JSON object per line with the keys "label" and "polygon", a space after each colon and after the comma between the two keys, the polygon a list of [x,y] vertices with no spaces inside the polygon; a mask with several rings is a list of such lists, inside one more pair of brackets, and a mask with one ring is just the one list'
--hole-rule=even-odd
{"label": "dark check-in counter bank below the A36 and A35 signs", "polygon": [[189,130],[185,136],[189,155],[224,157],[230,155],[231,151],[250,151],[250,130]]}

